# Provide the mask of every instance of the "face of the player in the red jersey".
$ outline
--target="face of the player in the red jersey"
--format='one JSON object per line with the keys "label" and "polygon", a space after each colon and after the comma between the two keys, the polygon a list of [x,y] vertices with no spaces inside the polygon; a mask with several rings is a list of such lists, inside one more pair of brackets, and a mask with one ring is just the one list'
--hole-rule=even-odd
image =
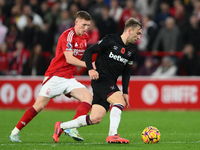
{"label": "face of the player in the red jersey", "polygon": [[88,28],[90,26],[90,23],[91,23],[91,21],[77,18],[75,21],[76,34],[78,34],[79,36],[85,34],[85,32],[88,30]]}

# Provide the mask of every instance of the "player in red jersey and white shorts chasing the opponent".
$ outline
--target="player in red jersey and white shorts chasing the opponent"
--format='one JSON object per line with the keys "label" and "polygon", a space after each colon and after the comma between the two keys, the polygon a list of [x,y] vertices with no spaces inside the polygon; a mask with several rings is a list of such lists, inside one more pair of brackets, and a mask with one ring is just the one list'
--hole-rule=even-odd
{"label": "player in red jersey and white shorts chasing the opponent", "polygon": [[[9,136],[12,142],[21,142],[19,132],[24,128],[42,109],[51,98],[65,94],[81,101],[77,108],[74,119],[86,115],[91,109],[92,94],[89,90],[74,78],[77,66],[86,67],[81,60],[87,47],[89,37],[86,33],[90,26],[91,16],[85,11],[77,12],[75,26],[62,33],[58,40],[55,58],[48,67],[42,88],[36,102],[29,108]],[[76,129],[65,130],[65,133],[77,141],[83,138]]]}

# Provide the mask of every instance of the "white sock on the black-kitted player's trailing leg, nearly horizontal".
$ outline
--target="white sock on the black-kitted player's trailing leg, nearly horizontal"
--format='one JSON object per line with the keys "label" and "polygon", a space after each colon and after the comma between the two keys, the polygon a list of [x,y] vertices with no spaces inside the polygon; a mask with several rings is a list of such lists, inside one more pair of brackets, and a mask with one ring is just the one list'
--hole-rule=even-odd
{"label": "white sock on the black-kitted player's trailing leg, nearly horizontal", "polygon": [[91,125],[91,124],[92,124],[92,122],[90,120],[90,116],[83,115],[74,120],[61,123],[60,128],[62,128],[62,129],[79,128],[79,127]]}

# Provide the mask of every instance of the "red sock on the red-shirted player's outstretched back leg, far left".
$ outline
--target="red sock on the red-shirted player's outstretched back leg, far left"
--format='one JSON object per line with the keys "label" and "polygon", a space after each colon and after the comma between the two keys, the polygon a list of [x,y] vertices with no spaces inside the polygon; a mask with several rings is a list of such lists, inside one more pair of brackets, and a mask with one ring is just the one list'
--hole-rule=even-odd
{"label": "red sock on the red-shirted player's outstretched back leg, far left", "polygon": [[21,130],[23,127],[25,127],[36,115],[37,111],[33,108],[30,107],[22,116],[22,118],[19,120],[18,124],[16,127]]}

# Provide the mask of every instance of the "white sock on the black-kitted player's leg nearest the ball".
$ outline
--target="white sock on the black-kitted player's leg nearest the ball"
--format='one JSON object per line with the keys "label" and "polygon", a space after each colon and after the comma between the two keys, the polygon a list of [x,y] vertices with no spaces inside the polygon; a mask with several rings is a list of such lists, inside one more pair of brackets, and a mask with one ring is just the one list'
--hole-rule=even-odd
{"label": "white sock on the black-kitted player's leg nearest the ball", "polygon": [[110,129],[108,136],[113,136],[117,134],[117,129],[121,120],[121,113],[124,106],[121,104],[114,104],[110,111]]}

